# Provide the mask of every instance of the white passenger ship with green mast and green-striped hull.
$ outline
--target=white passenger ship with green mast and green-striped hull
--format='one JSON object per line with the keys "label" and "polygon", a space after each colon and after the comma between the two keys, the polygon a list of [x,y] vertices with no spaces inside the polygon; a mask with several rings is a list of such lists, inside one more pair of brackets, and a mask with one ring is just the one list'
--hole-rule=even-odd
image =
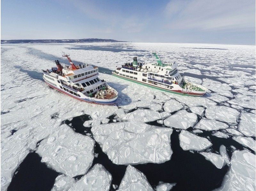
{"label": "white passenger ship with green mast and green-striped hull", "polygon": [[208,89],[202,85],[185,80],[177,70],[175,62],[162,63],[156,53],[153,54],[157,60],[155,64],[138,63],[137,57],[133,57],[132,63],[125,63],[112,74],[124,80],[175,94],[203,96],[207,92]]}

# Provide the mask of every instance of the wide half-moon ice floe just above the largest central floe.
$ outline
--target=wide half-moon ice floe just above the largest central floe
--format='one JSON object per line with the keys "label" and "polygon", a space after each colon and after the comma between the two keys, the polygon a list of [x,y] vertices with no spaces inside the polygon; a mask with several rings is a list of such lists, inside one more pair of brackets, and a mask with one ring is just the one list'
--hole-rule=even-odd
{"label": "wide half-moon ice floe just above the largest central floe", "polygon": [[138,109],[131,113],[127,113],[123,118],[127,121],[140,121],[140,122],[150,122],[161,119],[160,114],[157,111],[148,110],[148,109]]}

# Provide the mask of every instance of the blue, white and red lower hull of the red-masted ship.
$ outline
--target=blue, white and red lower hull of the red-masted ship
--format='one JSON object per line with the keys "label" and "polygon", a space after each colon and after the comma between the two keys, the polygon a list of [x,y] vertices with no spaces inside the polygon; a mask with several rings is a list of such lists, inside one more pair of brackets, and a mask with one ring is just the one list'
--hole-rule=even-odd
{"label": "blue, white and red lower hull of the red-masted ship", "polygon": [[55,86],[49,84],[49,83],[46,82],[45,80],[44,80],[44,82],[45,82],[48,86],[50,86],[51,88],[54,88],[54,89],[58,90],[59,92],[65,94],[65,95],[67,95],[67,96],[70,96],[70,97],[72,97],[72,98],[75,98],[76,100],[82,101],[82,102],[94,103],[94,104],[100,104],[100,105],[111,105],[111,104],[116,103],[116,100],[117,100],[117,96],[116,96],[115,98],[111,99],[111,100],[105,100],[105,101],[97,101],[97,100],[89,100],[89,99],[86,99],[86,98],[78,98],[78,97],[76,97],[76,96],[73,96],[73,95],[71,95],[71,94],[68,94],[67,92],[63,91],[62,89],[60,89],[60,88],[58,88],[58,87],[55,87]]}

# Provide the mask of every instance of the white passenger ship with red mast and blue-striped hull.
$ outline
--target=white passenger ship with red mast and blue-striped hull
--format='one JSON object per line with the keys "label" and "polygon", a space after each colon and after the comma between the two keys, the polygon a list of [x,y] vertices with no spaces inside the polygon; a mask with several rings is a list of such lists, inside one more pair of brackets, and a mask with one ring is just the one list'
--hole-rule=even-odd
{"label": "white passenger ship with red mast and blue-striped hull", "polygon": [[99,79],[98,67],[88,64],[78,66],[71,61],[69,55],[64,53],[62,56],[68,58],[70,65],[63,68],[60,62],[55,60],[57,67],[42,70],[46,84],[80,101],[98,104],[116,102],[118,92],[106,81]]}

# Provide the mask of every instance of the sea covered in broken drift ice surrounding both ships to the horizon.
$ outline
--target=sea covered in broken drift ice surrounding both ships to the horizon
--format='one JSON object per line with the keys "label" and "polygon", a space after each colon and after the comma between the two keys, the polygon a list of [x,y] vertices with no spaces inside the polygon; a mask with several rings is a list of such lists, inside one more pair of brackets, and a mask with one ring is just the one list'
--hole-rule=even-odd
{"label": "sea covered in broken drift ice surrounding both ships to the horizon", "polygon": [[[209,91],[180,96],[111,75],[176,61]],[[99,67],[114,105],[48,87],[70,54]],[[255,190],[255,45],[56,43],[1,46],[1,190]]]}

